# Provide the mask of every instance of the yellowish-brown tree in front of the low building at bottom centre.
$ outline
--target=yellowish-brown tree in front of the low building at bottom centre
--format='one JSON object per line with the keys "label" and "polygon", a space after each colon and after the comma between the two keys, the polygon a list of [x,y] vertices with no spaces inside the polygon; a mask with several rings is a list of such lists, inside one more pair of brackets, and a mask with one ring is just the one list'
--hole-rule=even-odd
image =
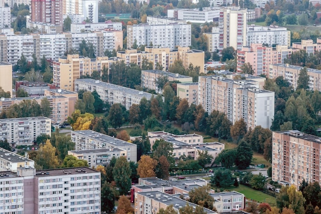
{"label": "yellowish-brown tree in front of the low building at bottom centre", "polygon": [[213,209],[214,198],[210,195],[208,186],[200,186],[189,191],[189,201],[199,206]]}

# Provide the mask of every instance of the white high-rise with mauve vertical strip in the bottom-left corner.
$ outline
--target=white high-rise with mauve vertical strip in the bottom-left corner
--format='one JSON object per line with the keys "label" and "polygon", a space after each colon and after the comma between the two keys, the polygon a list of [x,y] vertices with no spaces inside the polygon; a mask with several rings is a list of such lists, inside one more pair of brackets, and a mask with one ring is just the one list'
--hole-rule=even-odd
{"label": "white high-rise with mauve vertical strip in the bottom-left corner", "polygon": [[88,167],[35,171],[30,166],[0,176],[4,213],[101,213],[101,173]]}

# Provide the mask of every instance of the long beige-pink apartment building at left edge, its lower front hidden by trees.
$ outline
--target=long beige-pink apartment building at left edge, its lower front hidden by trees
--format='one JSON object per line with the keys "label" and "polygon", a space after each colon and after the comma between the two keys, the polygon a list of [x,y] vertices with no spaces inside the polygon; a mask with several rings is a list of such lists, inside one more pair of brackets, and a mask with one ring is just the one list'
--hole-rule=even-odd
{"label": "long beige-pink apartment building at left edge, its lower front hidden by trees", "polygon": [[[52,107],[52,114],[50,119],[52,123],[62,123],[74,112],[74,102],[69,97],[65,96],[50,96],[46,97]],[[13,104],[19,104],[23,100],[35,100],[41,103],[44,97],[19,97],[19,98],[1,98],[0,99],[0,113],[7,110]]]}

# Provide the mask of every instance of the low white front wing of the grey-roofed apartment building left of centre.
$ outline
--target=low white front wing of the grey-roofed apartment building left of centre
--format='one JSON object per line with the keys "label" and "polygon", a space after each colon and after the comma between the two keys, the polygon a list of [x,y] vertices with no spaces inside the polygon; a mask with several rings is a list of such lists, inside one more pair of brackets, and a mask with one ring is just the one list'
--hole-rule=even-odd
{"label": "low white front wing of the grey-roofed apartment building left of centre", "polygon": [[97,148],[68,151],[68,155],[72,155],[80,160],[86,160],[90,168],[96,168],[97,166],[107,166],[113,157],[127,157],[127,151],[116,147]]}

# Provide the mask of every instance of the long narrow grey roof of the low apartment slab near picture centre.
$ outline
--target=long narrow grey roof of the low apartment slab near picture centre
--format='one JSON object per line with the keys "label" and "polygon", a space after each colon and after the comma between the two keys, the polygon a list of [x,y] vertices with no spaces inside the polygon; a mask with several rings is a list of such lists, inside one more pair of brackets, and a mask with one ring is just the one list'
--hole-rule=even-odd
{"label": "long narrow grey roof of the low apartment slab near picture centre", "polygon": [[96,87],[103,87],[104,89],[119,91],[125,94],[130,94],[132,96],[146,97],[147,99],[151,99],[153,96],[153,94],[150,94],[150,93],[146,93],[135,89],[130,89],[130,88],[126,88],[119,85],[115,85],[115,84],[111,84],[111,83],[107,83],[99,80],[94,80],[94,79],[76,79],[75,83],[76,82],[85,82],[85,83],[94,85]]}

